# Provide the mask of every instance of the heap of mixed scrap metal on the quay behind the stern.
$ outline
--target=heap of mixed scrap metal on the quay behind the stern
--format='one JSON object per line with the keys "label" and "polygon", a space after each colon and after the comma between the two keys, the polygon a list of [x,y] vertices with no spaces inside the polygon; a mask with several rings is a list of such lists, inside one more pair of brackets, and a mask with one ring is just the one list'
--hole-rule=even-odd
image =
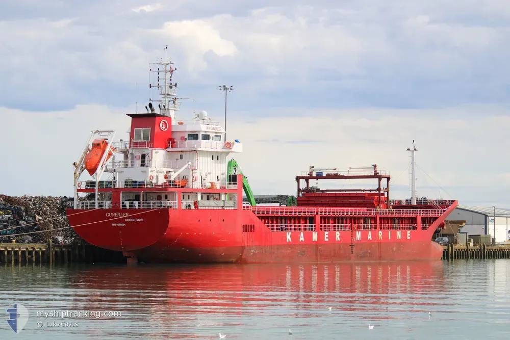
{"label": "heap of mixed scrap metal on the quay behind the stern", "polygon": [[[0,195],[0,243],[80,242],[66,217],[67,202],[72,197]],[[15,226],[20,227],[10,229]],[[42,232],[14,236],[32,231]]]}

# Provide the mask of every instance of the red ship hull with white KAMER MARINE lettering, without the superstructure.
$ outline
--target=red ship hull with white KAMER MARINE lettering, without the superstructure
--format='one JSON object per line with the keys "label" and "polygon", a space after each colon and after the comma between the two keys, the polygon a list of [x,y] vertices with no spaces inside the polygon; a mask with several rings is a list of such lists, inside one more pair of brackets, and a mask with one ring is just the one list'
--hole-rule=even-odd
{"label": "red ship hull with white KAMER MARINE lettering, without the superstructure", "polygon": [[68,210],[68,218],[87,242],[147,263],[334,263],[440,259],[432,234],[455,206],[416,230],[275,232],[250,209]]}

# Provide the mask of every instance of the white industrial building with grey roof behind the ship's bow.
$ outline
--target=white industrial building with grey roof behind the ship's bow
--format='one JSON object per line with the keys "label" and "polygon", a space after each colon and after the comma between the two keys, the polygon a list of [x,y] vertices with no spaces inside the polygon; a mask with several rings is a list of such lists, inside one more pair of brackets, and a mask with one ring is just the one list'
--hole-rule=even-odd
{"label": "white industrial building with grey roof behind the ship's bow", "polygon": [[466,221],[461,231],[469,235],[491,235],[492,238],[496,235],[496,243],[510,239],[510,211],[508,210],[459,205],[446,220]]}

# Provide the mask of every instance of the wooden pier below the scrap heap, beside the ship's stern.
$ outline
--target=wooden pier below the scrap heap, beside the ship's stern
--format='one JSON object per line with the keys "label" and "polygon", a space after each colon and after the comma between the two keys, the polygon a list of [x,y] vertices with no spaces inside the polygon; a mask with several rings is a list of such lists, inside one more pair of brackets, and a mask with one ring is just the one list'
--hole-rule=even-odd
{"label": "wooden pier below the scrap heap, beside the ship's stern", "polygon": [[0,243],[0,264],[124,263],[122,252],[90,244]]}

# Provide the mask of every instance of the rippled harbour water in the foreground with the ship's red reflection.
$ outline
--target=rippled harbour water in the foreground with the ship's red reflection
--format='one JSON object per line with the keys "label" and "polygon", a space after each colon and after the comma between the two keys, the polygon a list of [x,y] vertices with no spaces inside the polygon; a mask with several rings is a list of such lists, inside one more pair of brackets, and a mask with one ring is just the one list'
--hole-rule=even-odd
{"label": "rippled harbour water in the foreground with the ship's red reflection", "polygon": [[26,334],[42,339],[504,338],[510,329],[508,260],[0,271],[14,278],[0,276],[9,299],[31,310],[122,312],[75,329],[29,322]]}

